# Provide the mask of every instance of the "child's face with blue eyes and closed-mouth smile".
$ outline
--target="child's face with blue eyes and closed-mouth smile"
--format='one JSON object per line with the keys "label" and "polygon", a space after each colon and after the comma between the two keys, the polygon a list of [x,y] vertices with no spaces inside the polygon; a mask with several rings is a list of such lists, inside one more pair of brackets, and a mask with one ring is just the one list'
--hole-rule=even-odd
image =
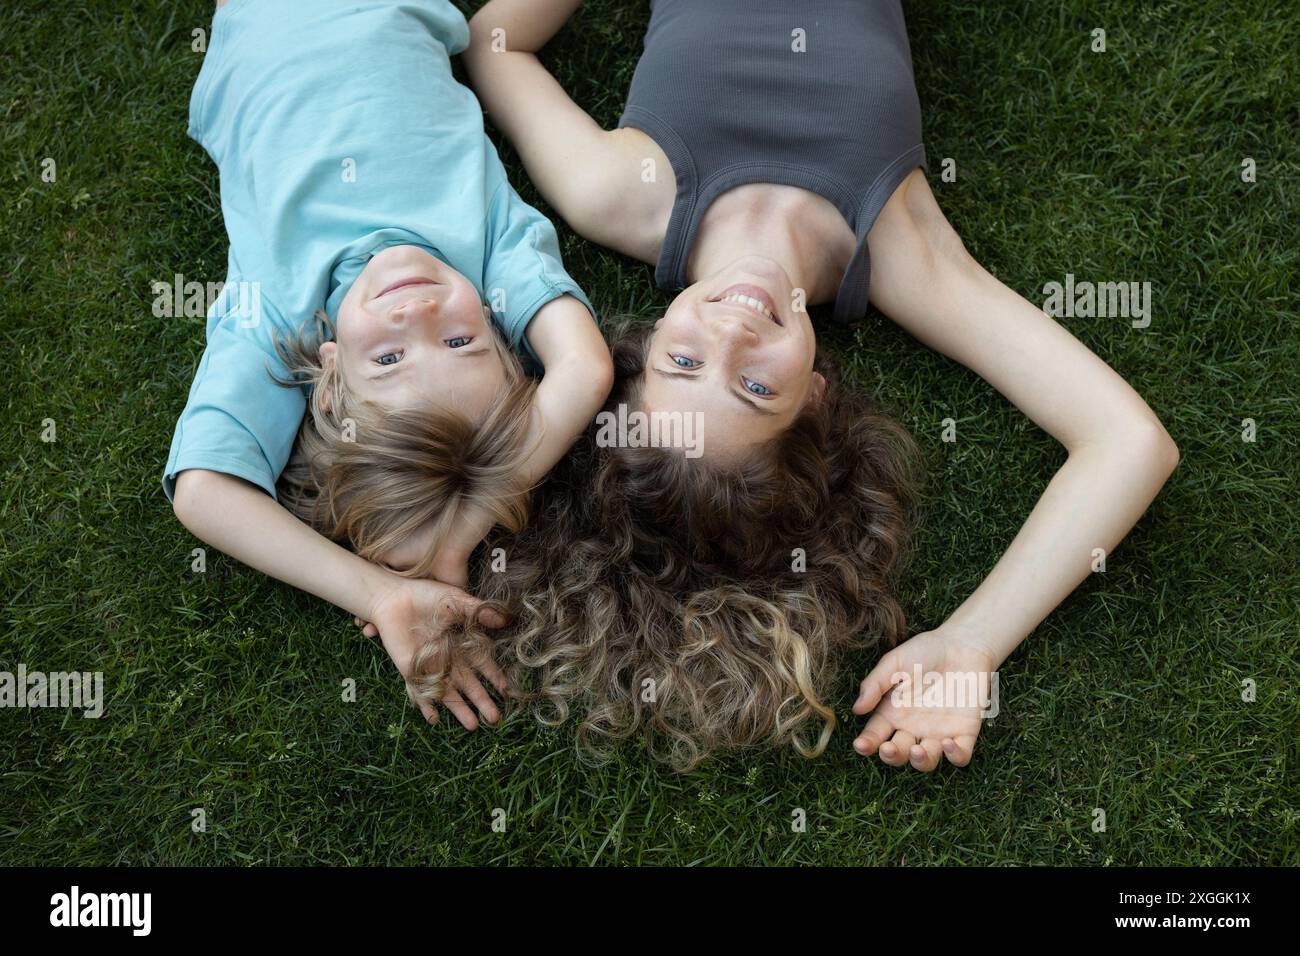
{"label": "child's face with blue eyes and closed-mouth smile", "polygon": [[415,246],[394,246],[358,276],[321,359],[348,390],[390,408],[438,405],[480,421],[506,390],[488,310],[474,286]]}

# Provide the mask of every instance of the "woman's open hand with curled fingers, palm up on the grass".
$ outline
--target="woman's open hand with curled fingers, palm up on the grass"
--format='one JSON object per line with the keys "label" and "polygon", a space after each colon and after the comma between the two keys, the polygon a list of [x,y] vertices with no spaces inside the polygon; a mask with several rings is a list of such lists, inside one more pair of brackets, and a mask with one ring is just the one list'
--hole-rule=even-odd
{"label": "woman's open hand with curled fingers, palm up on the grass", "polygon": [[[916,687],[915,667],[920,667],[922,684]],[[853,741],[854,749],[870,757],[879,752],[880,760],[890,766],[906,762],[916,770],[933,770],[941,757],[954,766],[966,766],[975,750],[975,737],[980,731],[980,713],[987,704],[983,697],[954,697],[952,691],[937,687],[927,698],[930,675],[967,678],[975,675],[974,687],[979,695],[988,693],[989,675],[996,662],[987,650],[944,631],[919,633],[890,650],[862,682],[862,689],[853,713],[867,714],[867,726]],[[933,678],[931,678],[933,679]],[[952,685],[949,679],[944,682]],[[971,687],[970,680],[958,680]]]}

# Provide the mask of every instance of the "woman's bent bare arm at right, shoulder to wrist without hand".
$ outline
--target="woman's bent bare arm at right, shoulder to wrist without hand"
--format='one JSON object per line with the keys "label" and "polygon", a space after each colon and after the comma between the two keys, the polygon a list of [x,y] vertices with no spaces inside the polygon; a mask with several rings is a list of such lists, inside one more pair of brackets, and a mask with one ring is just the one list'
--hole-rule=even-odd
{"label": "woman's bent bare arm at right, shoulder to wrist without hand", "polygon": [[948,618],[1004,661],[1147,510],[1178,463],[1160,420],[1109,365],[965,250],[916,172],[868,238],[876,306],[975,371],[1069,453],[1002,558]]}

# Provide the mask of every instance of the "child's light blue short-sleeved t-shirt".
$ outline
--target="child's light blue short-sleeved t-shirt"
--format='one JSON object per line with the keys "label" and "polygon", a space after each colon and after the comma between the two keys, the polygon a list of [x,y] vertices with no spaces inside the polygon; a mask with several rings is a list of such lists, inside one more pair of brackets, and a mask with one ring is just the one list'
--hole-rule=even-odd
{"label": "child's light blue short-sleeved t-shirt", "polygon": [[369,259],[420,246],[464,274],[511,346],[545,303],[590,302],[555,229],[506,181],[478,100],[451,75],[469,42],[446,0],[230,0],[212,21],[190,135],[221,170],[226,286],[162,486],[207,468],[276,494],[306,411],[273,346],[337,319]]}

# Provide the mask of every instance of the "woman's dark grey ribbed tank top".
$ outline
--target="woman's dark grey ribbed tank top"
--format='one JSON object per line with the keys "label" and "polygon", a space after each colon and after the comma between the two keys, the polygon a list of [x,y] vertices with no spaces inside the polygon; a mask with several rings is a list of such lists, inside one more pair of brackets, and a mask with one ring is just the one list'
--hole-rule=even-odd
{"label": "woman's dark grey ribbed tank top", "polygon": [[677,178],[660,289],[685,287],[708,204],[767,182],[840,211],[858,245],[835,317],[866,313],[867,233],[907,173],[926,166],[898,0],[653,0],[619,126],[653,138]]}

